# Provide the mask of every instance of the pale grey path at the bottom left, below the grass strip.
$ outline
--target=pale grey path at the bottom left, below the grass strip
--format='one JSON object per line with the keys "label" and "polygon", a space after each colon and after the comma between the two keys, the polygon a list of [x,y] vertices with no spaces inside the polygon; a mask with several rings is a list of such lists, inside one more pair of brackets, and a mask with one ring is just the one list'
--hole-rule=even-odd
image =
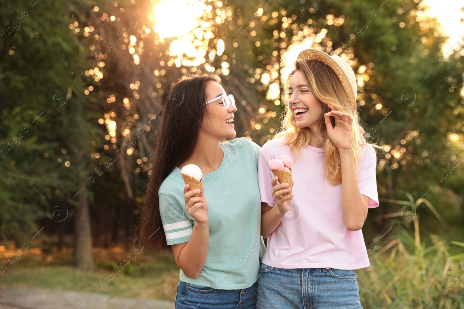
{"label": "pale grey path at the bottom left, below the grass strip", "polygon": [[174,309],[174,302],[1,285],[0,309]]}

